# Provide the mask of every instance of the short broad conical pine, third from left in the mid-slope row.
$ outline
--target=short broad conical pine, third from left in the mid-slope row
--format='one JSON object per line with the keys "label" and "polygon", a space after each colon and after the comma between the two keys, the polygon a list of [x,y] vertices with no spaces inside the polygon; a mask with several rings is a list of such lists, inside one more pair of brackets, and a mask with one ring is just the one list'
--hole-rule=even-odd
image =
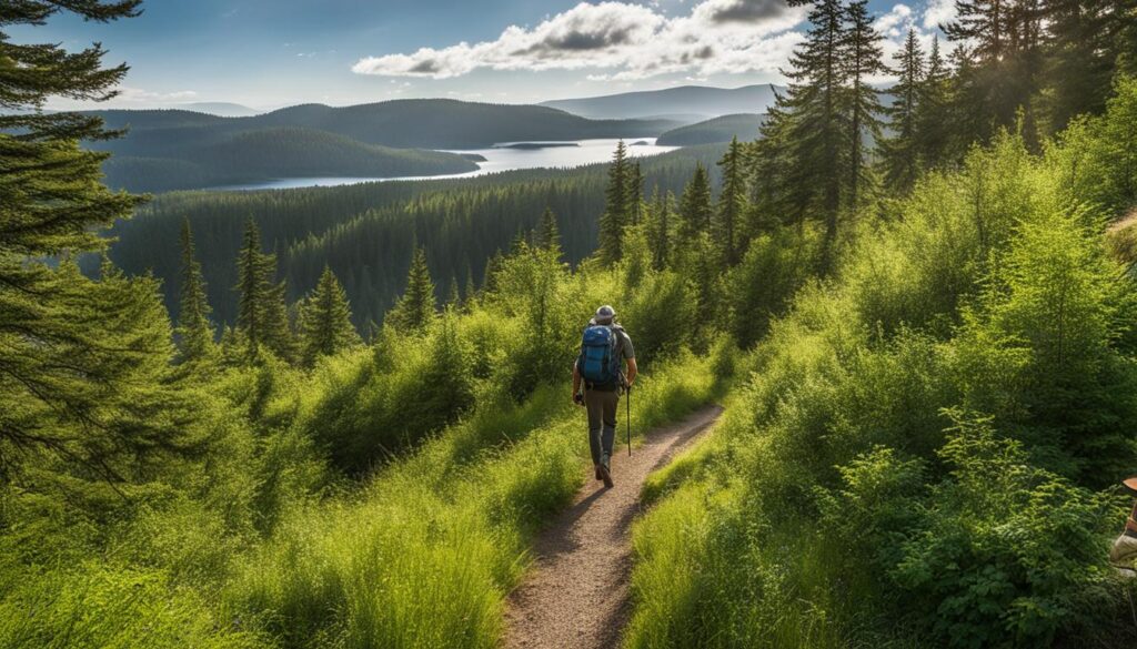
{"label": "short broad conical pine, third from left in the mid-slope row", "polygon": [[324,266],[315,290],[300,306],[300,344],[304,364],[332,356],[360,343],[351,325],[351,305],[331,267]]}

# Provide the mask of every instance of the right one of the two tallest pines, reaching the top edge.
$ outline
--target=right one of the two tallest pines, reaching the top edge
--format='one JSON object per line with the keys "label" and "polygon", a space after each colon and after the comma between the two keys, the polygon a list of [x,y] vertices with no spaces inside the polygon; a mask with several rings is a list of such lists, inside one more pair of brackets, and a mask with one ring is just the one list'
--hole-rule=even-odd
{"label": "right one of the two tallest pines, reaching the top edge", "polygon": [[848,203],[856,211],[861,207],[861,191],[865,182],[868,165],[865,164],[865,138],[880,140],[881,111],[877,89],[868,80],[885,70],[881,61],[881,36],[872,26],[869,16],[869,0],[856,0],[848,6],[848,30],[845,35],[845,61],[848,78],[847,108],[849,128]]}

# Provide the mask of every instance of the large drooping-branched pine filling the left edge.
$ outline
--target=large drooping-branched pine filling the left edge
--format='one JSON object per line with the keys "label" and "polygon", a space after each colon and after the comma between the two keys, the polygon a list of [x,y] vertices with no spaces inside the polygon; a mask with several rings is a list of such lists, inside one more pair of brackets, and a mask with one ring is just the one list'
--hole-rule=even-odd
{"label": "large drooping-branched pine filling the left edge", "polygon": [[[109,22],[138,7],[5,2],[0,30],[31,30],[60,11]],[[127,68],[102,68],[105,53],[14,44],[0,31],[0,480],[36,458],[25,489],[57,467],[117,482],[185,443],[184,413],[166,388],[173,344],[157,282],[109,264],[92,281],[70,261],[103,249],[100,231],[141,202],[100,184],[108,155],[81,148],[114,134],[97,115],[39,111],[49,97],[113,98]]]}

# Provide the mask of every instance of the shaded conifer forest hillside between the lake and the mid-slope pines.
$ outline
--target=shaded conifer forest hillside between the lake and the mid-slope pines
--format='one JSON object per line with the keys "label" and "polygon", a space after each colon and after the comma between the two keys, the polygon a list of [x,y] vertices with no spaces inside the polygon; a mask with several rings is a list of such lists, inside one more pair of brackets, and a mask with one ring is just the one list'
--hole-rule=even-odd
{"label": "shaded conifer forest hillside between the lake and the mid-slope pines", "polygon": [[[696,164],[712,165],[720,153],[711,147],[644,158],[644,190],[678,193]],[[596,249],[604,177],[604,166],[594,165],[453,181],[168,194],[111,228],[117,241],[109,255],[128,274],[151,271],[163,280],[166,305],[176,317],[177,238],[188,219],[217,322],[232,324],[236,252],[244,221],[252,217],[267,249],[277,253],[289,299],[307,293],[324,266],[331,266],[355,306],[356,324],[365,331],[366,323],[382,322],[401,291],[416,241],[428,251],[439,298],[449,293],[451,282],[463,294],[471,282],[480,285],[490,258],[508,252],[546,208],[556,215],[565,258],[586,258]]]}

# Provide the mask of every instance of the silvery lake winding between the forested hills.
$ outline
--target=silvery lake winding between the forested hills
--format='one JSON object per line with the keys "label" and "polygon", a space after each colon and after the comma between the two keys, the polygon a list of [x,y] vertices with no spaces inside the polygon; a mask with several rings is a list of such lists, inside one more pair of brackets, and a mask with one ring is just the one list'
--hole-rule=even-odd
{"label": "silvery lake winding between the forested hills", "polygon": [[[575,147],[565,145],[566,142],[503,142],[489,149],[466,149],[462,151],[451,150],[453,153],[478,153],[485,158],[479,161],[480,167],[475,172],[464,174],[450,174],[442,176],[398,176],[398,177],[301,177],[301,178],[277,178],[258,183],[224,185],[209,188],[214,191],[251,191],[251,190],[287,190],[294,188],[352,185],[358,183],[373,183],[384,181],[423,181],[440,178],[470,178],[483,176],[497,172],[508,172],[512,169],[533,169],[538,167],[580,167],[596,163],[606,163],[612,159],[612,152],[616,149],[619,140],[578,140]],[[679,147],[658,147],[655,138],[632,138],[624,140],[628,144],[628,153],[632,157],[654,156],[674,151]],[[637,142],[645,144],[634,145]],[[542,145],[548,144],[548,145]]]}

